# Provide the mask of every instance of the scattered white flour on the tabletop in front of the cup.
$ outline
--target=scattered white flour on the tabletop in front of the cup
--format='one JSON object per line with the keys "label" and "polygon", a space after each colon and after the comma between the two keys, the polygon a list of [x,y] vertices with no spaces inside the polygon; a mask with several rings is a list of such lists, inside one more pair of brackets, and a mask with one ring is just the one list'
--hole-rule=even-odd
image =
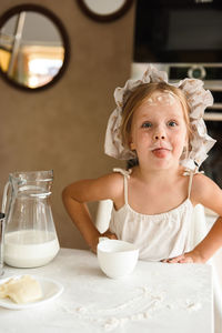
{"label": "scattered white flour on the tabletop in front of the cup", "polygon": [[[104,295],[104,304],[98,307],[94,303],[89,305],[80,304],[62,304],[63,311],[73,315],[81,321],[88,321],[92,324],[101,326],[104,331],[110,332],[121,327],[130,322],[139,322],[158,315],[162,309],[174,311],[181,309],[183,311],[199,311],[201,302],[194,300],[168,300],[167,292],[153,291],[149,286],[137,287],[130,291],[131,297],[110,306]],[[118,297],[117,297],[118,300]],[[101,304],[101,302],[100,302]],[[109,304],[109,307],[108,307]]]}

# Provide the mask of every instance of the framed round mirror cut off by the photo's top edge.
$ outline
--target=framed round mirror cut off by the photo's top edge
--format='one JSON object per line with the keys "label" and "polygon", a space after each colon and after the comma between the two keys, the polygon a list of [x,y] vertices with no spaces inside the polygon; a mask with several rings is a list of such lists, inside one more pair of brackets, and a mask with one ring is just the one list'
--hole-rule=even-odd
{"label": "framed round mirror cut off by the photo's top edge", "polygon": [[123,16],[133,0],[78,0],[78,2],[91,19],[107,22]]}

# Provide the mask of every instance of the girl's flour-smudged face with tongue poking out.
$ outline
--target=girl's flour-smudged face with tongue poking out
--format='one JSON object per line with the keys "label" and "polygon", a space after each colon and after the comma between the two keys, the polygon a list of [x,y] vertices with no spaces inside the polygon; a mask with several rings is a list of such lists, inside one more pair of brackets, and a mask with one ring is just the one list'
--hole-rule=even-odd
{"label": "girl's flour-smudged face with tongue poking out", "polygon": [[155,169],[179,165],[188,143],[181,103],[170,92],[154,92],[133,113],[130,148],[139,163]]}

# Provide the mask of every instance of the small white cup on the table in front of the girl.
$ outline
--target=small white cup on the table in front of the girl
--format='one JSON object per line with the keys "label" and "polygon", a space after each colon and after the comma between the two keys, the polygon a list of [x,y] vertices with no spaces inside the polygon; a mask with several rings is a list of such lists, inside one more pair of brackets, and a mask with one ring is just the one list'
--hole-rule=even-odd
{"label": "small white cup on the table in front of the girl", "polygon": [[132,273],[138,262],[139,249],[124,241],[105,239],[98,244],[98,261],[103,273],[120,279]]}

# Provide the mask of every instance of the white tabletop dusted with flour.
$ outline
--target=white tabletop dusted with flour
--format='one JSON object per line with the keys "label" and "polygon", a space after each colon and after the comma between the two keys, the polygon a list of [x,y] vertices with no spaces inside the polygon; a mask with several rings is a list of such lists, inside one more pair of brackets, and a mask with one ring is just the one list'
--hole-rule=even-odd
{"label": "white tabletop dusted with flour", "polygon": [[54,301],[29,310],[0,309],[0,332],[213,332],[211,268],[139,261],[122,280],[107,278],[97,256],[61,249],[47,266],[4,266],[4,278],[32,274],[62,283]]}

